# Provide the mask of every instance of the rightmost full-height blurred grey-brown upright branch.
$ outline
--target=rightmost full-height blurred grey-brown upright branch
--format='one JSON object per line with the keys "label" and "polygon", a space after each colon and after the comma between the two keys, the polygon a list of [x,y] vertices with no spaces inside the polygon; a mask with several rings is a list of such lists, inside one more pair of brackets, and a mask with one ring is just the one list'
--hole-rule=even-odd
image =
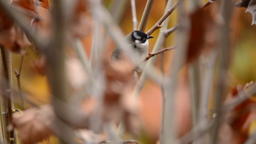
{"label": "rightmost full-height blurred grey-brown upright branch", "polygon": [[222,12],[224,24],[220,27],[220,45],[218,49],[218,68],[216,72],[216,82],[214,91],[214,103],[215,103],[215,113],[217,114],[215,123],[212,129],[212,139],[211,143],[215,144],[217,142],[217,134],[219,126],[221,124],[221,107],[222,100],[227,95],[227,74],[229,66],[229,23],[232,14],[232,3],[231,1],[221,1],[222,2]]}

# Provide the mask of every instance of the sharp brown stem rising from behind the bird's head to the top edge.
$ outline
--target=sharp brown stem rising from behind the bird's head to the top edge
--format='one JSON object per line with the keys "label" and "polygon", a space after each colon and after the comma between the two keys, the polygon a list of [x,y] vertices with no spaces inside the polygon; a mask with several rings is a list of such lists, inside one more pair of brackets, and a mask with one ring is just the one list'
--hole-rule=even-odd
{"label": "sharp brown stem rising from behind the bird's head to the top edge", "polygon": [[147,0],[146,7],[144,9],[144,12],[143,12],[141,20],[140,20],[140,25],[138,27],[139,31],[145,31],[147,21],[149,20],[149,16],[150,16],[154,2],[155,2],[155,0]]}

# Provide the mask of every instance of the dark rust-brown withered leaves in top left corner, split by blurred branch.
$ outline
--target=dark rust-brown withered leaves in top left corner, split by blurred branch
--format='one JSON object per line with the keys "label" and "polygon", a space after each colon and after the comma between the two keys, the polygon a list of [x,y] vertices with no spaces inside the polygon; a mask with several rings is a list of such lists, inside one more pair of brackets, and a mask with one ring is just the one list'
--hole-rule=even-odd
{"label": "dark rust-brown withered leaves in top left corner, split by blurred branch", "polygon": [[[19,11],[16,15],[19,16],[26,24],[31,27],[35,19],[40,19],[36,4],[33,0],[13,0],[11,3]],[[18,25],[13,24],[4,12],[0,14],[0,45],[5,46],[12,52],[25,53],[25,48],[31,45],[24,31]]]}

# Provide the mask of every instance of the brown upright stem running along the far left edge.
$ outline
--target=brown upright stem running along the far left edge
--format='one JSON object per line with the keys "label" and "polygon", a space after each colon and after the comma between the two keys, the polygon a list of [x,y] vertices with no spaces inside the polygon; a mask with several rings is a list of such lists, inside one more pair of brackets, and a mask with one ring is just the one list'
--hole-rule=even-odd
{"label": "brown upright stem running along the far left edge", "polygon": [[9,131],[8,126],[12,123],[12,109],[13,98],[12,98],[12,60],[11,52],[6,50],[3,46],[1,47],[1,58],[0,58],[0,78],[1,78],[1,113],[3,122],[3,135],[5,144],[18,144],[16,131]]}

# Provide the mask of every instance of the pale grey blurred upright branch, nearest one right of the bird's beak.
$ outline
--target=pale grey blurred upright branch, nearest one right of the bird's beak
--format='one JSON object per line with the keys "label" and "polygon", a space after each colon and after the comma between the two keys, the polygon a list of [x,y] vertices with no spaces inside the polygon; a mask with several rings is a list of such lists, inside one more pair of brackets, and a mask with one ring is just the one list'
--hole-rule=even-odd
{"label": "pale grey blurred upright branch, nearest one right of the bird's beak", "polygon": [[166,91],[166,113],[164,119],[164,133],[161,144],[172,143],[176,135],[176,117],[175,116],[175,99],[176,86],[179,76],[179,71],[185,64],[186,51],[189,36],[189,20],[185,13],[184,4],[181,3],[179,10],[180,29],[177,32],[177,50],[174,53],[172,65],[170,67],[170,76],[165,84]]}

